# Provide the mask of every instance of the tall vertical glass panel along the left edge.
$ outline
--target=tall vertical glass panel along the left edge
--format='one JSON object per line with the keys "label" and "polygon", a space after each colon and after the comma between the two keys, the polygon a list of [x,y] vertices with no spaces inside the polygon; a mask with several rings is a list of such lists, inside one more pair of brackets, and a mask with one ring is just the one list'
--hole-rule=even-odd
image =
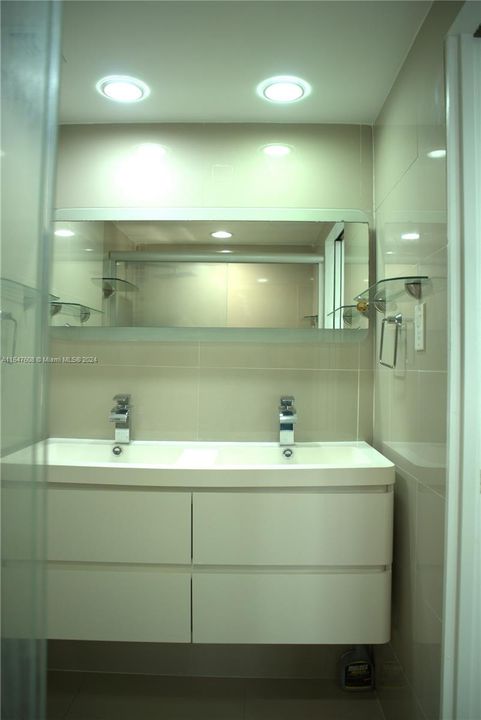
{"label": "tall vertical glass panel along the left edge", "polygon": [[48,218],[60,3],[2,3],[2,718],[44,717]]}

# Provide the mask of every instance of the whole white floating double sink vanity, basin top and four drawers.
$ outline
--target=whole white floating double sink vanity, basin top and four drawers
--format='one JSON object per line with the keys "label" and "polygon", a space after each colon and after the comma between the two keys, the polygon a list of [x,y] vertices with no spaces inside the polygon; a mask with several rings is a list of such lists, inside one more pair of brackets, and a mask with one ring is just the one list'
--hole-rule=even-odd
{"label": "whole white floating double sink vanity, basin top and four drawers", "polygon": [[50,638],[389,640],[394,466],[366,443],[46,442]]}

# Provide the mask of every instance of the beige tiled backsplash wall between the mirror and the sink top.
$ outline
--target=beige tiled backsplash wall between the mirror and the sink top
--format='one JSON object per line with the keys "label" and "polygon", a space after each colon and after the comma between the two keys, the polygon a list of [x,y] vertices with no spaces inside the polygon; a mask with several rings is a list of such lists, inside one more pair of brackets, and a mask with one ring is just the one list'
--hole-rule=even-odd
{"label": "beige tiled backsplash wall between the mirror and the sink top", "polygon": [[112,397],[126,392],[134,439],[274,441],[283,394],[296,398],[298,440],[371,438],[364,344],[56,341],[51,354],[98,359],[51,367],[53,437],[111,438]]}

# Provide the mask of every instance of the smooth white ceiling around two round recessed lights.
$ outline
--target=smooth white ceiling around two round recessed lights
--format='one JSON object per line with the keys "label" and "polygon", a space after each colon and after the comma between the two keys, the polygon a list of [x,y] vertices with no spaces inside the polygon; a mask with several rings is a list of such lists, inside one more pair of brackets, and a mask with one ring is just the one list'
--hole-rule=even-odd
{"label": "smooth white ceiling around two round recessed lights", "polygon": [[[423,0],[69,0],[63,123],[372,124],[429,10]],[[151,88],[140,103],[103,98],[109,74]],[[274,75],[312,85],[284,106],[255,92]]]}

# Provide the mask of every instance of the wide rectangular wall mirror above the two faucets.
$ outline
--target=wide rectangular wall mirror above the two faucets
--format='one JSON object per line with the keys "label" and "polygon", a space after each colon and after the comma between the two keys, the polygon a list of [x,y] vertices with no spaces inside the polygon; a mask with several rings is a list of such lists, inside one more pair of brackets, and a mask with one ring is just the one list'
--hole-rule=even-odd
{"label": "wide rectangular wall mirror above the two faucets", "polygon": [[369,284],[369,228],[362,217],[329,219],[318,211],[307,219],[229,220],[224,211],[211,220],[208,211],[193,214],[133,219],[117,211],[115,219],[58,219],[50,301],[55,333],[364,336],[367,313],[354,300]]}

